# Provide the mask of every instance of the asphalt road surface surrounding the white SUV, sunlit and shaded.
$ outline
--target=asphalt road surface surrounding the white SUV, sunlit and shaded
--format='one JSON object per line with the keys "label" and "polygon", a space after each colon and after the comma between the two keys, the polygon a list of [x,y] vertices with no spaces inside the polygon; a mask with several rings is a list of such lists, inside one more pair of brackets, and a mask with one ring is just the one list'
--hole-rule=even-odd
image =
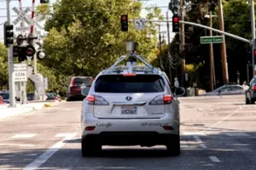
{"label": "asphalt road surface surrounding the white SUV, sunlit and shaded", "polygon": [[180,156],[153,148],[103,146],[102,156],[80,152],[81,102],[0,121],[0,169],[255,170],[256,104],[243,96],[180,98]]}

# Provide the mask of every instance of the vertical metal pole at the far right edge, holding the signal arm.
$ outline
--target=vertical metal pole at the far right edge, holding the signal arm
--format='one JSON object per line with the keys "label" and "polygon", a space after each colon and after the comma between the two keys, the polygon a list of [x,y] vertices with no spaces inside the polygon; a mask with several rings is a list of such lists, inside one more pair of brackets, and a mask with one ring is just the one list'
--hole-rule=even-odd
{"label": "vertical metal pole at the far right edge, holding the signal arm", "polygon": [[255,64],[254,64],[254,54],[253,54],[253,49],[255,48],[255,17],[254,17],[254,1],[251,0],[251,22],[252,22],[252,42],[253,42],[253,47],[252,47],[252,65],[253,65],[253,77],[254,77],[254,72],[255,72]]}

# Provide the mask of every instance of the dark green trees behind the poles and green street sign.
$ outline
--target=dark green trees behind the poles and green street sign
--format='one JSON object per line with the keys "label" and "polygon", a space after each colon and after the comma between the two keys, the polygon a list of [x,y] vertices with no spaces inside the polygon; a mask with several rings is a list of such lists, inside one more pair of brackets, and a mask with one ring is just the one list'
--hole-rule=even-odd
{"label": "dark green trees behind the poles and green street sign", "polygon": [[[217,1],[213,1],[217,5]],[[205,0],[198,0],[192,9],[185,15],[185,20],[190,22],[199,23],[204,26],[209,26],[209,19],[204,16],[208,14],[208,5]],[[250,22],[250,4],[241,0],[223,0],[224,9],[224,30],[235,34],[239,37],[251,39],[251,22]],[[246,11],[246,12],[245,12]],[[218,6],[215,7],[212,12],[213,15],[218,15]],[[218,29],[218,17],[212,17],[213,28]],[[219,35],[218,33],[212,33],[213,36]],[[200,37],[209,36],[209,31],[201,29],[197,26],[185,25],[185,50],[184,56],[187,65],[201,65],[200,69],[197,69],[197,83],[199,88],[209,88],[209,45],[201,44]],[[179,35],[176,35],[171,44],[171,54],[178,55],[179,51]],[[229,65],[229,77],[230,82],[236,82],[236,71],[241,73],[241,81],[246,80],[246,65],[248,58],[248,51],[251,47],[246,42],[241,42],[234,38],[225,37],[227,59]],[[220,44],[213,44],[214,65],[216,81],[219,83],[217,86],[223,85],[223,73],[221,63]],[[186,71],[189,71],[187,67]]]}

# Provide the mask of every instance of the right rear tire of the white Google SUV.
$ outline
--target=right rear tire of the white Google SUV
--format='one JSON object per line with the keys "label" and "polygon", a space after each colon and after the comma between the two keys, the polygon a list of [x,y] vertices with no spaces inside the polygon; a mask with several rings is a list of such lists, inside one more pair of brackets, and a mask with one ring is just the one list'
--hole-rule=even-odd
{"label": "right rear tire of the white Google SUV", "polygon": [[166,144],[168,156],[179,156],[180,155],[180,136],[175,135],[172,137],[169,144]]}

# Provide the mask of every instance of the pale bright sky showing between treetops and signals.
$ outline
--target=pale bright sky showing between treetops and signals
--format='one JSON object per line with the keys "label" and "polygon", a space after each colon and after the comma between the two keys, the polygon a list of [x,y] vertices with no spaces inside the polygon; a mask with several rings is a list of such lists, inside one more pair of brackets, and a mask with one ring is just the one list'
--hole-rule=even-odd
{"label": "pale bright sky showing between treetops and signals", "polygon": [[[85,0],[84,0],[85,1]],[[40,3],[40,0],[35,1],[36,6]],[[143,2],[143,8],[148,7],[150,5],[156,4],[158,7],[161,8],[162,14],[166,17],[166,11],[168,10],[167,6],[170,0],[142,0]],[[49,3],[55,3],[55,0],[49,0]],[[23,10],[25,10],[26,7],[32,7],[32,0],[21,0],[21,5],[23,7]],[[18,0],[11,0],[10,2],[10,14],[11,14],[11,20],[12,22],[17,18],[17,14],[15,14],[14,10],[12,8],[20,8],[19,1]],[[29,11],[27,14],[31,14],[32,12]],[[169,18],[172,16],[171,11],[169,13]],[[145,9],[142,11],[142,17],[146,15]],[[3,42],[3,23],[7,20],[7,10],[6,10],[6,0],[0,0],[0,41]],[[44,26],[44,22],[39,23],[41,26]],[[162,35],[166,37],[166,24],[163,24],[164,26],[161,26]],[[26,25],[27,26],[27,25]],[[18,23],[15,27],[20,27],[20,23]],[[14,29],[15,30],[15,29]],[[172,31],[172,28],[170,29]],[[41,30],[44,32],[44,30]],[[15,31],[15,34],[18,33]],[[170,32],[171,38],[174,37],[175,34]]]}

